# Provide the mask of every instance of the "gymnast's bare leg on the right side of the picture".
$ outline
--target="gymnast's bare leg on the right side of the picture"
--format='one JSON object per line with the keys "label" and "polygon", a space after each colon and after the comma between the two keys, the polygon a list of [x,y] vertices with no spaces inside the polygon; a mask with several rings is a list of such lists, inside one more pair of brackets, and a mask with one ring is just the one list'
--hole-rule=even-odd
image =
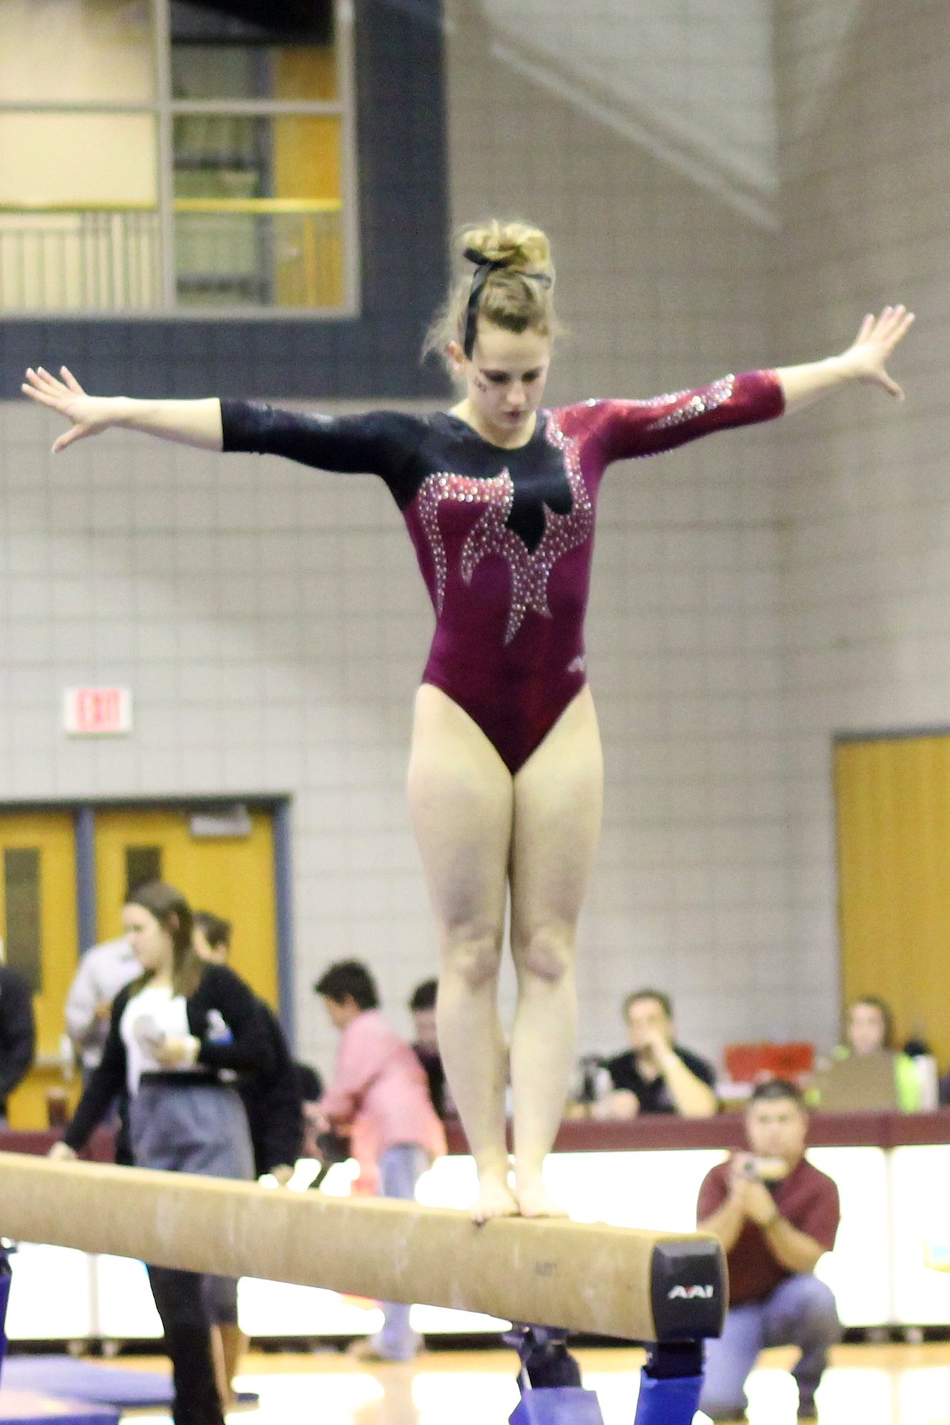
{"label": "gymnast's bare leg on the right side of the picture", "polygon": [[518,1005],[511,1037],[515,1193],[525,1217],[562,1211],[541,1168],[563,1113],[575,1056],[578,916],[603,808],[591,690],[565,708],[515,777],[511,943]]}

